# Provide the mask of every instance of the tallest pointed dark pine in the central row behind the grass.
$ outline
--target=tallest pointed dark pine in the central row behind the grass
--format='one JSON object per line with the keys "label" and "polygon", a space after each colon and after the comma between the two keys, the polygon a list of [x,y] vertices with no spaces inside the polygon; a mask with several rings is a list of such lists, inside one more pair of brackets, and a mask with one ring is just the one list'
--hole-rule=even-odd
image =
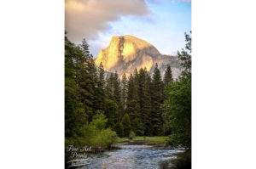
{"label": "tallest pointed dark pine in the central row behind the grass", "polygon": [[164,83],[161,80],[160,70],[155,64],[154,75],[152,81],[152,124],[154,128],[154,135],[163,135],[163,120],[162,110],[160,105],[164,101]]}

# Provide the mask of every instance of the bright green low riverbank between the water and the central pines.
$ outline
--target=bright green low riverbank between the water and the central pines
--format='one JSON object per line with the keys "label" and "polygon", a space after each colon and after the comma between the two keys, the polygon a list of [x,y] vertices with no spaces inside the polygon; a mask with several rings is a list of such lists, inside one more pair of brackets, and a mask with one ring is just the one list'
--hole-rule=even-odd
{"label": "bright green low riverbank between the water and the central pines", "polygon": [[159,145],[159,144],[165,144],[166,138],[168,138],[168,136],[153,136],[153,137],[137,136],[133,139],[118,138],[118,143],[131,142],[132,144]]}

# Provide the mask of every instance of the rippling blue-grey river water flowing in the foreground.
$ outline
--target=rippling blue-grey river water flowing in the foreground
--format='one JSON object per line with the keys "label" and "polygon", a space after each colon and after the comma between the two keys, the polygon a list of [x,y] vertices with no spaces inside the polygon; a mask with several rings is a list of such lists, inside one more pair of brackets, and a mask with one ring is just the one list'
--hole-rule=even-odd
{"label": "rippling blue-grey river water flowing in the foreground", "polygon": [[164,146],[117,144],[121,149],[89,155],[89,164],[80,169],[128,169],[128,168],[159,168],[158,162],[175,158],[182,149],[167,149]]}

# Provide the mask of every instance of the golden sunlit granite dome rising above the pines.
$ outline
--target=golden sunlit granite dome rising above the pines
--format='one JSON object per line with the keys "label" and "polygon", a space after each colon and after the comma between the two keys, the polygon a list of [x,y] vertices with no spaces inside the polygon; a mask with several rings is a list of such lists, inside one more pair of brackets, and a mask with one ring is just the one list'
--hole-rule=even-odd
{"label": "golden sunlit granite dome rising above the pines", "polygon": [[134,69],[139,70],[145,67],[152,75],[156,63],[162,76],[167,65],[171,65],[174,78],[177,78],[181,72],[177,57],[162,55],[149,42],[130,35],[113,36],[108,48],[100,51],[95,62],[96,65],[100,65],[102,62],[105,70],[117,71],[119,77],[124,73],[126,76],[130,76]]}

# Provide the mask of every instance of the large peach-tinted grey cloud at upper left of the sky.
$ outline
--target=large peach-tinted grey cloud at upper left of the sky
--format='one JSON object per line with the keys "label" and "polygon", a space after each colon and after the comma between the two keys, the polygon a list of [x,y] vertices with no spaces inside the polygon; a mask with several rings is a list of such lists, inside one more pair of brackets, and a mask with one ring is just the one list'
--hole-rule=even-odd
{"label": "large peach-tinted grey cloud at upper left of the sky", "polygon": [[73,42],[93,40],[121,16],[148,14],[145,0],[66,0],[65,29]]}

